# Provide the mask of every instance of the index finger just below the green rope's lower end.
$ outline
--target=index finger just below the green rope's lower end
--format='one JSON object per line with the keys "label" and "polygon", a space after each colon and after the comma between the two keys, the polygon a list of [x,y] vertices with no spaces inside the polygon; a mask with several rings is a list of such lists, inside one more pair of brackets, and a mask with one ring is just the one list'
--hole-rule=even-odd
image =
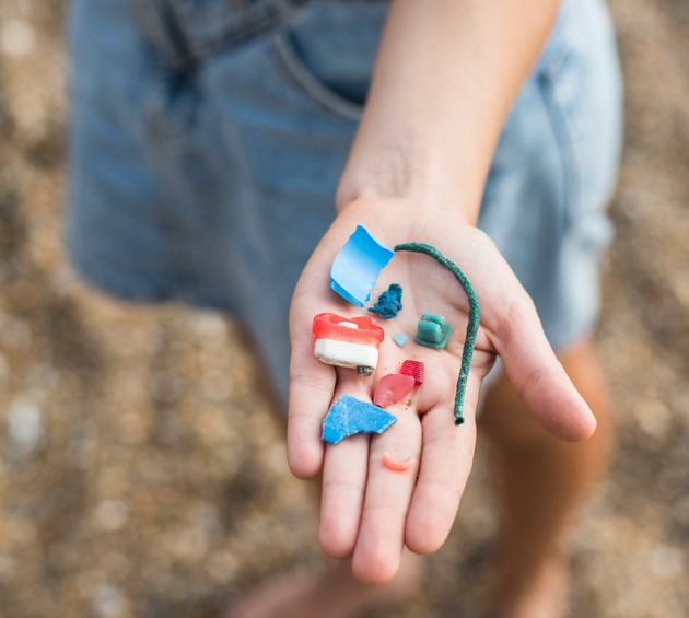
{"label": "index finger just below the green rope's lower end", "polygon": [[[465,408],[472,411],[480,380],[469,376],[467,386]],[[452,401],[433,408],[421,420],[421,469],[405,528],[405,543],[416,553],[431,553],[445,543],[471,471],[476,445],[474,413],[465,413],[465,422],[459,427],[454,420]]]}

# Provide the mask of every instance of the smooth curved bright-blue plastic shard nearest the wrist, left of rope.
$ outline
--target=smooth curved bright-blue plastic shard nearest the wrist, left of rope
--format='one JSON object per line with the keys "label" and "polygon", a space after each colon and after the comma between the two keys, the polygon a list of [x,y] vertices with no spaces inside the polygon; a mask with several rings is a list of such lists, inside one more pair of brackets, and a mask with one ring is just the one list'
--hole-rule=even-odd
{"label": "smooth curved bright-blue plastic shard nearest the wrist, left of rope", "polygon": [[376,241],[363,225],[344,243],[330,269],[330,288],[346,301],[362,307],[395,252]]}

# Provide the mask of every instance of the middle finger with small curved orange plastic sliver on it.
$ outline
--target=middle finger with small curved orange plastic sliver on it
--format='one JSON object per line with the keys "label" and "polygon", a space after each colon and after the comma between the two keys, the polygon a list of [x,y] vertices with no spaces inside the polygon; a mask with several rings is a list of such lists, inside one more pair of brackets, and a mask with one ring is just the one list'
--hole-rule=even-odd
{"label": "middle finger with small curved orange plastic sliver on it", "polygon": [[[388,582],[399,569],[421,453],[421,423],[413,406],[399,403],[387,411],[398,420],[371,440],[366,495],[352,561],[357,579],[371,585]],[[413,466],[404,471],[392,470],[383,463],[385,453],[399,462],[413,457]]]}

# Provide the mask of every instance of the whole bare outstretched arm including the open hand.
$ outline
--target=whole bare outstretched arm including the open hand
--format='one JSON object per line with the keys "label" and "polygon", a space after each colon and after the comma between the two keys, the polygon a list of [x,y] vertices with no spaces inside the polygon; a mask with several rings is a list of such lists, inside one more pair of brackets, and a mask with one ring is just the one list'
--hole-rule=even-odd
{"label": "whole bare outstretched arm including the open hand", "polygon": [[[558,362],[534,303],[476,223],[484,178],[510,106],[551,27],[556,0],[394,0],[370,100],[338,190],[339,214],[306,265],[292,299],[288,459],[300,478],[323,469],[318,539],[332,558],[352,558],[370,584],[388,581],[402,547],[429,553],[444,543],[471,469],[481,381],[500,354],[524,404],[554,435],[588,438],[596,421]],[[439,247],[474,283],[479,334],[465,398],[454,424],[466,296],[434,261],[396,255],[373,298],[398,283],[404,311],[384,326],[372,377],[320,363],[311,324],[322,312],[354,315],[329,289],[332,259],[357,224],[388,246],[416,241]],[[396,333],[416,333],[421,312],[440,313],[457,337],[439,352]],[[330,405],[347,394],[371,401],[379,380],[413,355],[424,382],[389,407],[397,423],[383,435],[320,440]],[[407,473],[383,455],[413,457]],[[418,475],[418,480],[417,480]]]}

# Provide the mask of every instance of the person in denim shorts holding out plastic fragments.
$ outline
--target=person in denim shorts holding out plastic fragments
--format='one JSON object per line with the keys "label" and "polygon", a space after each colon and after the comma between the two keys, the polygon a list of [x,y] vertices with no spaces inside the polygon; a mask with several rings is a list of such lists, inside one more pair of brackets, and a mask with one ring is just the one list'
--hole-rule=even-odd
{"label": "person in denim shorts holding out plastic fragments", "polygon": [[[499,354],[481,416],[505,509],[495,609],[560,616],[558,540],[607,440],[591,333],[620,83],[603,0],[74,0],[71,28],[75,266],[119,296],[234,314],[290,390],[291,469],[323,469],[318,538],[344,562],[268,584],[233,615],[357,616],[409,590],[402,548],[429,553],[448,534]],[[462,340],[414,347],[427,378],[398,422],[325,448],[330,404],[370,400],[385,373],[313,355],[315,314],[357,315],[328,281],[360,223],[388,246],[436,246],[472,281],[467,422],[452,413]],[[397,256],[374,293],[389,283],[405,306],[381,365],[407,358],[390,335],[428,307],[464,333],[464,292],[432,260]],[[416,467],[384,468],[385,451]]]}

